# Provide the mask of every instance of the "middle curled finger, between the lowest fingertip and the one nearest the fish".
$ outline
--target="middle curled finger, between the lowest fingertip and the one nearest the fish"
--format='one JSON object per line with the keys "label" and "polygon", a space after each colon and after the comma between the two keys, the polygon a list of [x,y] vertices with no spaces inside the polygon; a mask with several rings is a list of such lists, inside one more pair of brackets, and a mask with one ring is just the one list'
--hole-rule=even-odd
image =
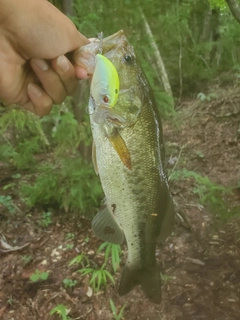
{"label": "middle curled finger, between the lowest fingertip and the one nearest the fish", "polygon": [[47,95],[54,103],[62,103],[67,96],[67,91],[59,75],[46,60],[31,59],[30,64]]}

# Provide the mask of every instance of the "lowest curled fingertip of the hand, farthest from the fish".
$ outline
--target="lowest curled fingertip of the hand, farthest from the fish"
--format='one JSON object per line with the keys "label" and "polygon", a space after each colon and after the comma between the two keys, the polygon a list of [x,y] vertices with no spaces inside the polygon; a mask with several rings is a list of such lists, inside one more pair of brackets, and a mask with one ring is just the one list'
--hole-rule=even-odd
{"label": "lowest curled fingertip of the hand, farthest from the fish", "polygon": [[22,105],[39,116],[45,116],[52,110],[52,99],[38,85],[29,83],[27,87],[29,100]]}

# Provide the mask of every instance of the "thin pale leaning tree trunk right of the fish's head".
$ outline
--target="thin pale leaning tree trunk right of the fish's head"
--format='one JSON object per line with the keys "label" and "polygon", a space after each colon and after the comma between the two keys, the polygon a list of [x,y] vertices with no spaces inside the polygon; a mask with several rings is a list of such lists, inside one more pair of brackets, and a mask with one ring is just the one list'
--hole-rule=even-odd
{"label": "thin pale leaning tree trunk right of the fish's head", "polygon": [[147,33],[147,35],[149,37],[149,40],[150,40],[150,45],[153,48],[154,58],[156,60],[156,65],[157,65],[158,72],[160,73],[160,76],[161,76],[161,79],[162,79],[164,90],[166,91],[166,93],[170,97],[172,97],[172,89],[171,89],[171,86],[170,86],[170,82],[168,80],[168,75],[167,75],[167,72],[166,72],[166,69],[165,69],[165,66],[164,66],[160,51],[158,49],[156,41],[154,40],[154,37],[153,37],[153,34],[152,34],[152,30],[151,30],[151,28],[150,28],[150,26],[149,26],[149,24],[147,22],[147,19],[146,19],[146,17],[145,17],[145,15],[144,15],[144,13],[143,13],[141,8],[140,8],[140,13],[141,13],[141,16],[142,16],[142,19],[143,19],[143,22],[144,22],[145,31],[146,31],[146,33]]}

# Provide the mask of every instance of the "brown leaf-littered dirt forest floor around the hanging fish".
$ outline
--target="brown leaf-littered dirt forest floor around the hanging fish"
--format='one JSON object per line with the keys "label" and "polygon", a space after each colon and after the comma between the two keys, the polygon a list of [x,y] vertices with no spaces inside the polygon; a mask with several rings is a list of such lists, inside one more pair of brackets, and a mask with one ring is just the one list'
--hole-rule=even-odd
{"label": "brown leaf-littered dirt forest floor around the hanging fish", "polygon": [[[236,209],[240,204],[240,94],[234,89],[217,90],[216,99],[184,101],[177,111],[177,120],[163,123],[167,156],[175,158],[170,172],[186,168],[234,187],[226,201],[229,210]],[[6,194],[3,188],[16,173],[0,163],[0,194]],[[199,203],[191,179],[170,181],[170,185],[177,211],[185,213],[191,230],[176,217],[173,235],[157,248],[163,274],[160,305],[150,303],[140,288],[118,296],[124,247],[115,284],[92,294],[88,277],[77,272],[81,267],[68,266],[81,252],[101,266],[103,255],[96,254],[101,241],[93,235],[91,221],[83,216],[70,221],[59,211],[42,228],[43,209],[26,212],[12,190],[19,209],[12,215],[0,206],[0,232],[11,246],[26,247],[0,250],[0,319],[60,319],[49,313],[62,304],[71,319],[110,320],[114,319],[110,298],[118,311],[125,305],[125,320],[240,319],[240,206],[235,210],[239,215],[223,220]],[[36,269],[47,271],[48,279],[30,281]],[[65,288],[64,279],[77,284]]]}

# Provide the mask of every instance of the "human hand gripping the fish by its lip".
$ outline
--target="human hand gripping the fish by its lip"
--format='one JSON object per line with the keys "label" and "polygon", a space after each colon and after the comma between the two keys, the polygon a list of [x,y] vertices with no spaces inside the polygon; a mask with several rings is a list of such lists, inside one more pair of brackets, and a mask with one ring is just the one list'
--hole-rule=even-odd
{"label": "human hand gripping the fish by its lip", "polygon": [[0,2],[0,99],[40,116],[86,78],[65,56],[89,41],[46,0]]}

